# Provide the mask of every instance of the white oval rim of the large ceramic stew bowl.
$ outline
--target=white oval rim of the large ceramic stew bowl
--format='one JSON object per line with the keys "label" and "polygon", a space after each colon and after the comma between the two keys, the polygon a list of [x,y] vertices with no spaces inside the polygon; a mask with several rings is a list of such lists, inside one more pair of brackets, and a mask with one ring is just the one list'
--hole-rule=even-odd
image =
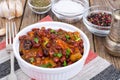
{"label": "white oval rim of the large ceramic stew bowl", "polygon": [[[77,62],[75,62],[75,63],[73,63],[73,64],[71,64],[71,65],[68,65],[68,66],[65,66],[65,67],[59,67],[59,68],[43,68],[43,67],[38,67],[38,66],[34,66],[34,65],[26,62],[25,60],[23,60],[23,59],[20,57],[20,55],[17,55],[18,53],[17,53],[17,51],[16,51],[16,46],[15,46],[15,43],[17,43],[17,40],[19,39],[20,34],[21,34],[24,30],[26,30],[28,27],[31,27],[31,29],[32,29],[33,26],[35,26],[35,25],[46,24],[46,23],[47,23],[47,24],[63,24],[63,25],[70,26],[70,27],[74,28],[75,30],[79,31],[80,34],[82,34],[83,37],[84,37],[84,39],[86,40],[86,44],[87,44],[87,48],[88,48],[88,49],[86,49],[86,54],[87,54],[87,55],[83,55],[80,60],[78,60]],[[88,40],[87,36],[85,35],[85,33],[84,33],[81,29],[76,28],[76,27],[73,26],[73,25],[70,25],[70,24],[67,24],[67,23],[63,23],[63,22],[57,22],[57,21],[39,22],[39,23],[35,23],[35,24],[32,24],[32,25],[26,26],[24,29],[22,29],[22,30],[16,35],[16,37],[14,38],[14,42],[13,42],[13,51],[14,51],[15,57],[16,57],[18,60],[24,62],[26,65],[28,65],[29,67],[31,67],[31,69],[32,69],[32,68],[35,68],[35,69],[41,70],[41,71],[43,71],[43,72],[44,72],[44,71],[47,71],[48,73],[49,73],[49,71],[52,72],[52,73],[55,73],[54,71],[64,72],[64,70],[67,69],[67,68],[71,69],[72,66],[75,66],[76,64],[79,64],[82,60],[85,60],[85,58],[88,56],[89,50],[90,50],[89,40]]]}

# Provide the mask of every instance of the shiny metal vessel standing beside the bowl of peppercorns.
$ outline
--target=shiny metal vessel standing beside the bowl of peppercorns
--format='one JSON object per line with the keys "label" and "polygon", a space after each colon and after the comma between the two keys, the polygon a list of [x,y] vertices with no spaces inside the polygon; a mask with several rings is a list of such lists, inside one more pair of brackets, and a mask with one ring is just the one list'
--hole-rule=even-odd
{"label": "shiny metal vessel standing beside the bowl of peppercorns", "polygon": [[111,30],[105,38],[104,46],[111,55],[120,56],[120,9],[113,12]]}

